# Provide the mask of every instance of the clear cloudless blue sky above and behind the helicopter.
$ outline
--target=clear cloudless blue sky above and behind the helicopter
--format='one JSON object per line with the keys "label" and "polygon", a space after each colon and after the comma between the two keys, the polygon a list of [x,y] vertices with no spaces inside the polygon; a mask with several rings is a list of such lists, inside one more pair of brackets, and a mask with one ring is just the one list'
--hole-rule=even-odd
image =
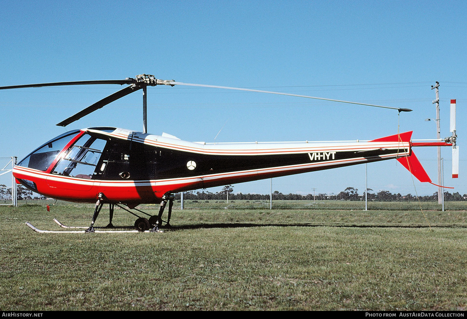
{"label": "clear cloudless blue sky above and behind the helicopter", "polygon": [[[414,139],[435,138],[435,123],[425,118],[436,117],[430,87],[439,81],[441,136],[451,134],[449,100],[455,98],[461,147],[460,178],[445,182],[465,194],[466,14],[465,1],[7,1],[0,11],[0,85],[146,73],[414,110],[399,122],[396,111],[368,106],[204,88],[148,89],[149,132],[212,142],[223,127],[216,141],[230,142],[375,139],[396,134],[398,124],[401,132],[413,130]],[[141,131],[141,91],[67,128],[55,125],[120,88],[0,91],[0,157],[22,158],[76,128]],[[415,152],[436,182],[436,149]],[[451,158],[449,148],[443,157]],[[394,176],[396,164],[372,166],[373,184],[413,194],[408,173]],[[448,177],[450,165],[445,167]],[[351,180],[354,171],[326,174],[283,179],[288,186],[279,190],[301,191],[294,184],[318,176]],[[436,191],[416,186],[421,194]]]}

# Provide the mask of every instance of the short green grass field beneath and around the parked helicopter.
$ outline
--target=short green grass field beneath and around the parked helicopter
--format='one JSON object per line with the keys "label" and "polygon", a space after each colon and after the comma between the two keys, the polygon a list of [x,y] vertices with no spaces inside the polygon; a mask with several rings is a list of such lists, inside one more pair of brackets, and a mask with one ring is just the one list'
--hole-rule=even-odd
{"label": "short green grass field beneath and around the parked helicopter", "polygon": [[0,310],[467,309],[466,211],[174,210],[163,234],[24,224],[92,210],[0,207]]}

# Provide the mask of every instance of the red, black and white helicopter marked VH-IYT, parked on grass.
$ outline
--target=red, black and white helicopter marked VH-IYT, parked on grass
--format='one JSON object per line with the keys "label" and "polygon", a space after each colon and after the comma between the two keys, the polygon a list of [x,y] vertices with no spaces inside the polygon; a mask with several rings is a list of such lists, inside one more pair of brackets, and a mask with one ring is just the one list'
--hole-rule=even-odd
{"label": "red, black and white helicopter marked VH-IYT, parked on grass", "polygon": [[[86,230],[68,232],[102,232],[94,229],[93,225],[104,204],[109,204],[108,227],[113,227],[113,209],[118,205],[138,217],[135,222],[137,230],[134,231],[159,231],[167,203],[167,224],[170,222],[174,193],[386,159],[397,159],[418,180],[432,183],[412,151],[414,146],[453,146],[453,177],[457,177],[458,174],[455,118],[454,126],[451,123],[453,136],[430,143],[412,142],[412,132],[359,142],[188,142],[166,133],[160,136],[147,133],[146,88],[156,85],[190,85],[314,98],[389,108],[399,112],[411,111],[409,109],[281,92],[181,83],[160,80],[145,74],[125,80],[39,83],[4,86],[0,87],[0,90],[77,84],[129,86],[57,125],[69,125],[120,97],[142,89],[143,132],[115,127],[91,127],[70,131],[44,143],[14,167],[13,175],[16,181],[36,193],[64,201],[97,201],[91,225],[83,227]],[[150,216],[148,220],[130,211],[135,209],[139,213],[149,215],[135,208],[139,204],[147,203],[160,203],[159,214]],[[70,228],[57,220],[56,222],[64,228]],[[30,223],[27,224],[38,232],[57,232],[36,229]]]}

